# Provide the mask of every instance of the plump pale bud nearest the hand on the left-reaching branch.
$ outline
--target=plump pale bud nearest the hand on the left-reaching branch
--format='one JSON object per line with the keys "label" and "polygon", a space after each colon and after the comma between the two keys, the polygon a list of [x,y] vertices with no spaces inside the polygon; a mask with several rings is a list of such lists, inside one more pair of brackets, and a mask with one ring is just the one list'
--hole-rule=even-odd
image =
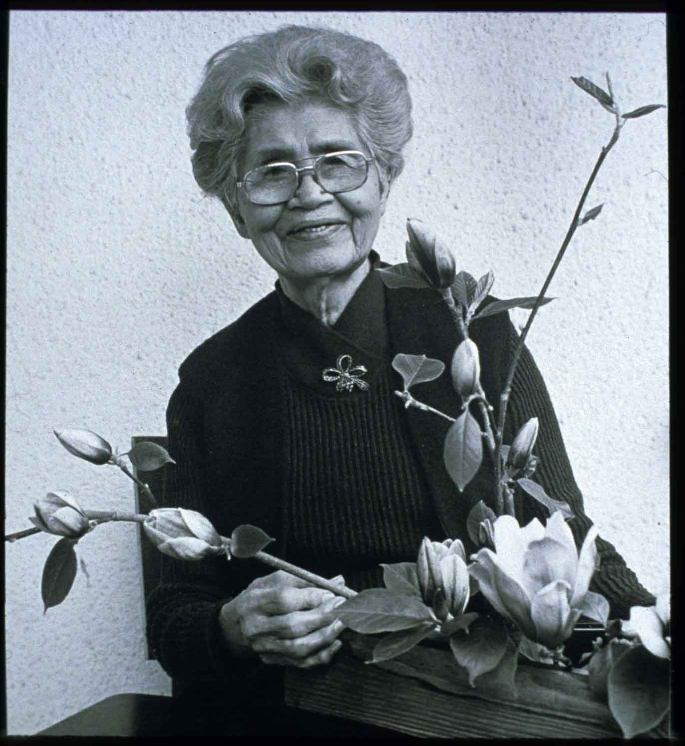
{"label": "plump pale bud nearest the hand on the left-reaching branch", "polygon": [[177,560],[202,560],[225,551],[221,536],[201,513],[184,508],[151,510],[143,523],[148,539]]}

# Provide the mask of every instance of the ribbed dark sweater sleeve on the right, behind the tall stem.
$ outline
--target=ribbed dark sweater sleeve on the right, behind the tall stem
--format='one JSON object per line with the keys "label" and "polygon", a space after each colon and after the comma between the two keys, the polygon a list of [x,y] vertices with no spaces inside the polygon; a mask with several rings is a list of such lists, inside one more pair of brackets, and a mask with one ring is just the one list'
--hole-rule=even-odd
{"label": "ribbed dark sweater sleeve on the right, behind the tall stem", "polygon": [[[502,368],[504,372],[509,367],[517,339],[513,325],[509,322],[508,326],[509,336]],[[513,378],[504,442],[511,442],[519,427],[531,417],[539,420],[539,434],[534,448],[539,462],[534,478],[551,498],[569,504],[574,515],[569,521],[569,527],[580,547],[592,521],[585,513],[583,495],[575,483],[547,387],[530,351],[524,346]],[[546,518],[545,508],[522,491],[517,490],[516,500],[517,513],[523,516],[524,523],[535,516],[540,520]],[[590,589],[607,598],[610,617],[628,618],[631,606],[652,606],[655,603],[654,595],[642,587],[636,574],[628,568],[616,548],[601,537],[597,538],[596,545],[600,565],[592,577]]]}

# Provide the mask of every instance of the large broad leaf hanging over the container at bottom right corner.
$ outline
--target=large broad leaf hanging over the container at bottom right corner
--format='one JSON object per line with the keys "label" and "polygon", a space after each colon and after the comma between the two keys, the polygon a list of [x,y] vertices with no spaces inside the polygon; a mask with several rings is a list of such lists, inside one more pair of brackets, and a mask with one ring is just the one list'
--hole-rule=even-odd
{"label": "large broad leaf hanging over the container at bottom right corner", "polygon": [[671,662],[642,645],[614,663],[607,680],[609,709],[627,739],[656,727],[669,711]]}

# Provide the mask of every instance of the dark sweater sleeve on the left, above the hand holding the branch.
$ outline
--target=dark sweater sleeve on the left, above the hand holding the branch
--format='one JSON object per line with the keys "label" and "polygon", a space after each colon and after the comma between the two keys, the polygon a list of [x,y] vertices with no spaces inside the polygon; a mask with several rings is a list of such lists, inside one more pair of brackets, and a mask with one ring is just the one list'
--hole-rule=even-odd
{"label": "dark sweater sleeve on the left, above the hand holding the branch", "polygon": [[[204,513],[201,412],[201,402],[180,383],[166,413],[169,454],[176,465],[169,469],[164,507]],[[260,662],[231,656],[219,627],[222,605],[238,592],[229,584],[226,558],[186,562],[160,556],[160,585],[147,599],[147,634],[162,668],[179,682],[228,682],[250,675]]]}

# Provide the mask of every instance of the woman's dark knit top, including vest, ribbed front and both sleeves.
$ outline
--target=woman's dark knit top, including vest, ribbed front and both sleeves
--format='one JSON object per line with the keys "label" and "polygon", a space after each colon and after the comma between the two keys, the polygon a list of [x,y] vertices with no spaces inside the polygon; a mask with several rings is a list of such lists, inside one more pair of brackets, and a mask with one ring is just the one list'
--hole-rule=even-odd
{"label": "woman's dark knit top, including vest, ribbed front and both sleeves", "polygon": [[[506,375],[516,331],[506,314],[472,324],[481,383],[492,404]],[[460,538],[473,504],[491,492],[487,463],[463,493],[442,464],[442,419],[404,410],[390,363],[398,352],[448,361],[459,340],[430,290],[386,290],[372,272],[334,327],[324,327],[277,289],[200,345],[180,369],[167,425],[172,468],[166,504],[198,510],[219,533],[241,523],[277,541],[272,554],[319,574],[342,573],[356,589],[381,584],[380,562],[413,561],[422,536]],[[322,380],[342,354],[363,365],[368,390],[337,392]],[[416,387],[421,401],[455,416],[448,374]],[[522,354],[507,410],[505,442],[539,419],[535,479],[569,503],[581,545],[592,524],[572,475],[542,377]],[[545,510],[517,495],[519,522]],[[654,597],[612,545],[597,540],[601,565],[592,589],[612,615]],[[264,666],[231,659],[217,615],[222,604],[271,568],[254,560],[181,562],[163,557],[160,586],[148,598],[148,639],[176,680],[233,681],[245,689]],[[475,597],[475,598],[478,598]],[[272,668],[272,667],[266,667]]]}

